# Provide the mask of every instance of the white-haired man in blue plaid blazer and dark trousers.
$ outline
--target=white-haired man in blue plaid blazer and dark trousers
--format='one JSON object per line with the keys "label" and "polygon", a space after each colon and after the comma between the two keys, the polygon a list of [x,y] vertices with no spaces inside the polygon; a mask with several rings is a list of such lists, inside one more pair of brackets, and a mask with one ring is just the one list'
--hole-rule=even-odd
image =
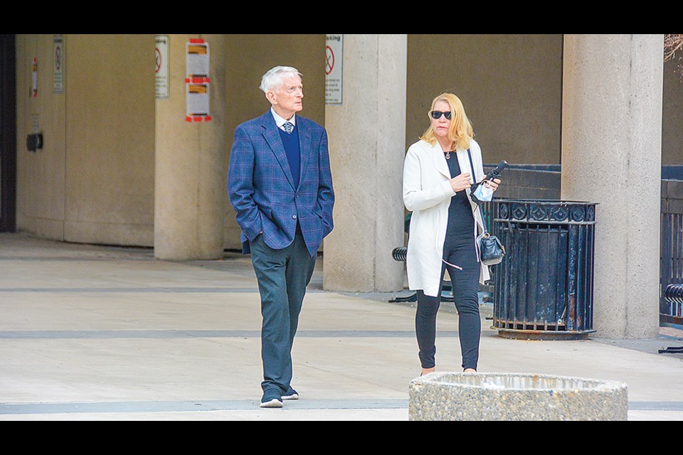
{"label": "white-haired man in blue plaid blazer and dark trousers", "polygon": [[282,407],[292,388],[292,343],[317,250],[332,231],[334,191],[327,132],[302,110],[300,73],[277,66],[260,89],[270,109],[235,129],[228,197],[261,296],[261,407]]}

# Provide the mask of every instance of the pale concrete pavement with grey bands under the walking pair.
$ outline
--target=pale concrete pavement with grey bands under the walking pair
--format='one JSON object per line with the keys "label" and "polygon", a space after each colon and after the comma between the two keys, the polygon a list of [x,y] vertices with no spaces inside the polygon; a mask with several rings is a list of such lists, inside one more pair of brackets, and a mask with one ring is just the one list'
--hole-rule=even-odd
{"label": "pale concrete pavement with grey bands under the walking pair", "polygon": [[[301,399],[262,410],[248,257],[166,262],[148,249],[0,234],[0,419],[407,420],[420,374],[414,304],[322,291],[318,265],[295,343]],[[480,371],[618,380],[630,420],[683,420],[683,354],[657,353],[683,346],[681,331],[519,341],[499,338],[490,312],[482,306]],[[452,304],[438,330],[438,370],[460,371]]]}

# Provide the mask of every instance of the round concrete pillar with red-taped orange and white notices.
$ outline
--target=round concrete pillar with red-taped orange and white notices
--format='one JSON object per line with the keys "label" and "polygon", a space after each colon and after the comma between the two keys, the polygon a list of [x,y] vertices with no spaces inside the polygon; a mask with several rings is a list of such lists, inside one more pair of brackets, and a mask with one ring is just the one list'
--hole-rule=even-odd
{"label": "round concrete pillar with red-taped orange and white notices", "polygon": [[[203,38],[210,55],[211,122],[186,122],[186,43]],[[157,100],[154,256],[223,256],[226,212],[225,36],[170,35],[168,100]]]}

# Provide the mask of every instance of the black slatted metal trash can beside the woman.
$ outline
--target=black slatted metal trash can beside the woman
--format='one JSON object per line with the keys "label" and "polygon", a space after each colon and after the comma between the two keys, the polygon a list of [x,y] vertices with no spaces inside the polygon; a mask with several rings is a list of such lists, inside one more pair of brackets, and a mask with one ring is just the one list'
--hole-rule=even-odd
{"label": "black slatted metal trash can beside the woman", "polygon": [[507,255],[495,267],[499,336],[581,339],[593,329],[595,203],[494,201]]}

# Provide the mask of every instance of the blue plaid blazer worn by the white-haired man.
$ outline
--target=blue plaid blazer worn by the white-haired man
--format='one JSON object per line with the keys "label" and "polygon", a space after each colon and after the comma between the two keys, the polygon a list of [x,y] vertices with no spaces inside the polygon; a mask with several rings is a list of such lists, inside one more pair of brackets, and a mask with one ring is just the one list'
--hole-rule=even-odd
{"label": "blue plaid blazer worn by the white-haired man", "polygon": [[332,231],[334,190],[329,170],[327,131],[297,115],[301,149],[299,186],[270,110],[235,129],[228,166],[228,198],[242,229],[243,253],[263,233],[274,250],[294,240],[297,221],[313,256]]}

